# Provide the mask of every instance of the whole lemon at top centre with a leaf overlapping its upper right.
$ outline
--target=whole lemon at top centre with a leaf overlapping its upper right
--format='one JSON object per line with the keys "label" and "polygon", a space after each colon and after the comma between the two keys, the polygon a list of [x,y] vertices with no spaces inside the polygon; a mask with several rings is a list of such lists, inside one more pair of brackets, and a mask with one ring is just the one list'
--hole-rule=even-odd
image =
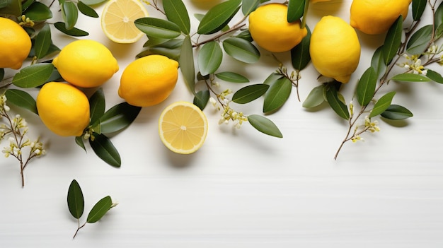
{"label": "whole lemon at top centre with a leaf overlapping its upper right", "polygon": [[249,15],[249,32],[257,45],[270,52],[286,52],[308,34],[300,21],[287,22],[285,4],[265,4]]}

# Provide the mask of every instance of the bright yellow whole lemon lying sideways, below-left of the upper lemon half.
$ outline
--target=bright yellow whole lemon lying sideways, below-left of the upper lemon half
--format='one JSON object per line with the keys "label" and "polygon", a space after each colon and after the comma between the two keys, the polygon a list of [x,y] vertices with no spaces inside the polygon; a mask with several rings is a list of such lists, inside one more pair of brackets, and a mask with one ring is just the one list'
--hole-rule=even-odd
{"label": "bright yellow whole lemon lying sideways, below-left of the upper lemon half", "polygon": [[103,85],[118,71],[117,59],[94,40],[76,40],[63,47],[52,64],[67,82],[82,88]]}

